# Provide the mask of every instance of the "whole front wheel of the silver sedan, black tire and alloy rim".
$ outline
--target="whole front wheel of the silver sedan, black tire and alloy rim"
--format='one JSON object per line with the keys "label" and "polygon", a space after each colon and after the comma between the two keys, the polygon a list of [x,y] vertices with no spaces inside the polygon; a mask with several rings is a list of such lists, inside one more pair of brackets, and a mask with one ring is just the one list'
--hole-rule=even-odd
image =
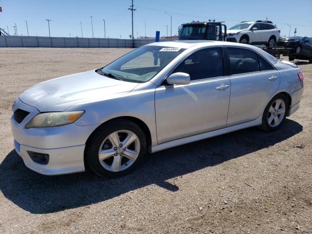
{"label": "whole front wheel of the silver sedan, black tire and alloy rim", "polygon": [[99,176],[117,177],[128,174],[147,152],[144,132],[129,120],[101,125],[88,139],[85,157]]}

